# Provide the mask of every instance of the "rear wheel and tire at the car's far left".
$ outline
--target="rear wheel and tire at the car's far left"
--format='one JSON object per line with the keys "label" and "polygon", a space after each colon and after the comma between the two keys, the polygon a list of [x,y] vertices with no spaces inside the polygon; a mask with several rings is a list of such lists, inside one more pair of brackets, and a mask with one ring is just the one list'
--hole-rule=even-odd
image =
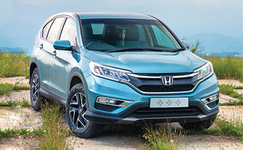
{"label": "rear wheel and tire at the car's far left", "polygon": [[41,104],[44,103],[44,97],[41,96],[41,93],[39,91],[40,86],[40,75],[38,72],[38,68],[36,67],[35,70],[33,70],[30,79],[30,101],[33,109],[36,111],[41,110]]}

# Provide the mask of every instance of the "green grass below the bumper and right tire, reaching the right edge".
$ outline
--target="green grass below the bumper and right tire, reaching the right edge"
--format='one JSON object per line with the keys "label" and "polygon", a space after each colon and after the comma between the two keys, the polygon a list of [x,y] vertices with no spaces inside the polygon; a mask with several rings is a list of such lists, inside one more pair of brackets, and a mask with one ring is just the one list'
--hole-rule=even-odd
{"label": "green grass below the bumper and right tire, reaching the right edge", "polygon": [[142,145],[144,149],[183,149],[183,136],[185,135],[227,135],[239,137],[243,140],[243,122],[241,118],[236,120],[226,120],[225,118],[217,117],[215,120],[215,128],[203,130],[171,130],[168,123],[159,125],[146,125],[144,128],[144,138],[146,143]]}

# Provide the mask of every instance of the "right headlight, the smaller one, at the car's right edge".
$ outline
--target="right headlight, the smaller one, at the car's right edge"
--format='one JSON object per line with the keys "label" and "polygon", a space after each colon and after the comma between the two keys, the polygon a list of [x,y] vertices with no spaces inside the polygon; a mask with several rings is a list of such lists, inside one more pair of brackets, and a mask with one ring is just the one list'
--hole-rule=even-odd
{"label": "right headlight, the smaller one, at the car's right edge", "polygon": [[207,62],[202,67],[197,68],[194,72],[198,72],[198,79],[205,78],[208,75],[212,75],[213,67],[211,62]]}

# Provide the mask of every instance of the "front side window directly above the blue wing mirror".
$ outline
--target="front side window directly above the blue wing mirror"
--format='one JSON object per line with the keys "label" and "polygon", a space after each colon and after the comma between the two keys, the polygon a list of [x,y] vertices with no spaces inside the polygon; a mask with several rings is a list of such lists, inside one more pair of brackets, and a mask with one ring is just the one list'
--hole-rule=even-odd
{"label": "front side window directly above the blue wing mirror", "polygon": [[75,46],[75,36],[75,23],[70,18],[67,18],[59,40],[70,41],[70,45]]}

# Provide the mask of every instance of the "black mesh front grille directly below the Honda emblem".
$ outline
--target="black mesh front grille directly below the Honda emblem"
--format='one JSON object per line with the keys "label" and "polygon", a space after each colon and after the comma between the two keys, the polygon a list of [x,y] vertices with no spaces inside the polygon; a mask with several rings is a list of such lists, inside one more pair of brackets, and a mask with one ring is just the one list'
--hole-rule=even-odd
{"label": "black mesh front grille directly below the Honda emblem", "polygon": [[172,86],[139,86],[140,91],[144,92],[176,92],[176,91],[191,91],[194,86],[191,84],[186,85],[172,85]]}

